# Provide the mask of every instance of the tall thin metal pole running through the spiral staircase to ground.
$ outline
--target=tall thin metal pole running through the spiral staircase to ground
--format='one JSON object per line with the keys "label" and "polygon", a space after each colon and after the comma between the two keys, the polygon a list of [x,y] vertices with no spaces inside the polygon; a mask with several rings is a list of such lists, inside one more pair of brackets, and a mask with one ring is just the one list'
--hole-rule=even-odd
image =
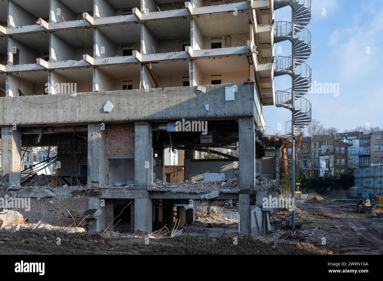
{"label": "tall thin metal pole running through the spiral staircase to ground", "polygon": [[[291,7],[291,34],[295,36],[294,26],[294,7]],[[291,67],[295,75],[295,58],[294,58],[294,44],[291,44]],[[291,214],[291,230],[295,229],[295,126],[294,126],[294,111],[295,111],[295,89],[294,89],[294,75],[291,78],[291,104],[293,111],[291,112],[291,136],[293,137],[293,143],[291,145],[291,200],[293,203],[293,211]]]}

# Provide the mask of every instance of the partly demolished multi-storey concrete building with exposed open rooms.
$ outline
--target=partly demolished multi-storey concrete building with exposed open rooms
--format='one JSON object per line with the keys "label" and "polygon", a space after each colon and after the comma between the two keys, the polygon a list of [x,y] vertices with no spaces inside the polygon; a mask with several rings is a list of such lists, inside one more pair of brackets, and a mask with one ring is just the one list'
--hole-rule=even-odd
{"label": "partly demolished multi-storey concrete building with exposed open rooms", "polygon": [[[131,231],[151,232],[159,220],[172,225],[174,204],[214,190],[215,199],[238,200],[239,232],[250,234],[256,159],[265,150],[262,108],[275,104],[273,5],[1,1],[2,176],[13,196],[31,198],[24,217],[56,223],[69,209],[96,208],[103,212],[89,229],[101,231],[131,203]],[[207,122],[207,130],[177,130],[182,120]],[[164,149],[185,151],[183,173],[192,181],[193,151],[236,145],[239,157],[225,159],[239,163],[229,178],[235,188],[158,187]],[[56,146],[55,179],[68,187],[19,188],[27,146]],[[70,187],[79,184],[97,193]]]}

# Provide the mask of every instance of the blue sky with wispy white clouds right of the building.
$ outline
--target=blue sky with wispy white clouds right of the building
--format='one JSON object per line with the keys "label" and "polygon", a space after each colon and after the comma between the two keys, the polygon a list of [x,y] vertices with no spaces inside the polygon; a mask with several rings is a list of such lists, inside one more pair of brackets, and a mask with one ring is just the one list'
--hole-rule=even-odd
{"label": "blue sky with wispy white clouds right of the building", "polygon": [[[326,15],[322,15],[326,9]],[[325,127],[344,129],[383,123],[383,0],[312,0],[312,54],[307,60],[313,83],[339,83],[339,95],[305,95],[313,118]],[[291,21],[291,8],[276,11],[276,21]],[[282,47],[282,54],[277,48]],[[276,55],[290,56],[291,43],[276,44]],[[290,76],[275,77],[275,90],[291,88]],[[291,112],[264,107],[266,133],[285,133]],[[282,123],[282,130],[278,130]]]}

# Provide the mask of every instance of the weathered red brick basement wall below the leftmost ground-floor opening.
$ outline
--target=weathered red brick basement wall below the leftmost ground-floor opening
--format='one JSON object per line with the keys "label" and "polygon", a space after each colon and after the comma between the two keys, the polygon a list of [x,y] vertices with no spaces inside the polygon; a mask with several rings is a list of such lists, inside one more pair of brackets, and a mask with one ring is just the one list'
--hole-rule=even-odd
{"label": "weathered red brick basement wall below the leftmost ground-floor opening", "polygon": [[[88,210],[87,197],[59,197],[59,198],[31,198],[31,210],[17,210],[23,214],[24,219],[28,218],[29,223],[44,221],[56,226],[57,216],[59,220],[63,213],[67,211]],[[63,223],[59,226],[69,226],[73,223],[72,218],[64,218]]]}

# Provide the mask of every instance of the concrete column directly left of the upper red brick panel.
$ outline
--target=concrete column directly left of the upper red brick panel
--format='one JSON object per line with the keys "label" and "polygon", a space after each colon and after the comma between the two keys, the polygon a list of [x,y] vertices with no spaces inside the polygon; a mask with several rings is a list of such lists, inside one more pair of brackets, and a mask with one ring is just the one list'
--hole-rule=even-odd
{"label": "concrete column directly left of the upper red brick panel", "polygon": [[88,124],[88,185],[105,184],[105,125]]}

